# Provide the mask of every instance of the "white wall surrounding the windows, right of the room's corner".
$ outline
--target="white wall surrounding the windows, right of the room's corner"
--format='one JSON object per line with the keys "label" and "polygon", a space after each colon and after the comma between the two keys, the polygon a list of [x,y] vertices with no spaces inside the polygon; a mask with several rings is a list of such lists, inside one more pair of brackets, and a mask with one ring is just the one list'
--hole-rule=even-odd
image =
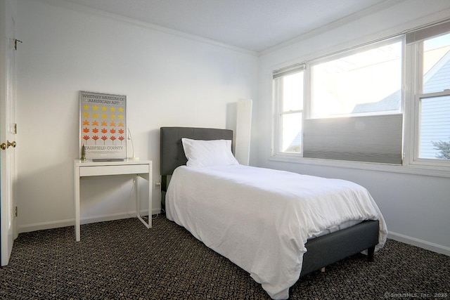
{"label": "white wall surrounding the windows, right of the room's corner", "polygon": [[257,123],[253,128],[257,128],[257,132],[252,149],[257,149],[256,164],[360,183],[378,203],[390,237],[450,255],[450,178],[276,162],[270,160],[271,135],[265,134],[272,131],[272,70],[397,34],[449,15],[450,2],[447,0],[387,1],[371,13],[359,13],[345,22],[336,22],[296,41],[264,51],[259,59],[259,98],[254,104]]}

